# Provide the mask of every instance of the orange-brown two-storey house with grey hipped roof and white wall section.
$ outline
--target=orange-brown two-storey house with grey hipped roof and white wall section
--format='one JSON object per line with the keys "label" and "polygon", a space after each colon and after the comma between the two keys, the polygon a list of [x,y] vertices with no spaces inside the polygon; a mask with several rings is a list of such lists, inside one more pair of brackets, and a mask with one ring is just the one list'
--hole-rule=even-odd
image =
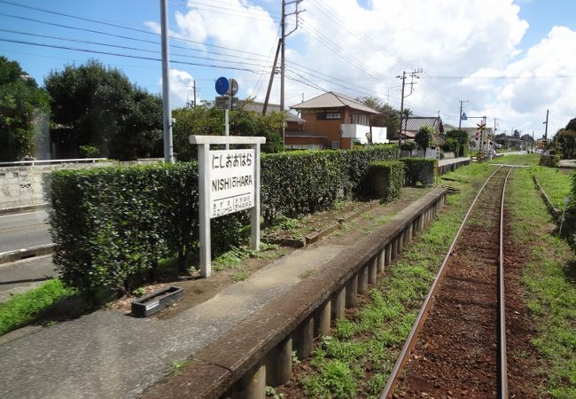
{"label": "orange-brown two-storey house with grey hipped roof and white wall section", "polygon": [[354,142],[387,143],[386,128],[370,125],[378,111],[344,94],[328,91],[292,109],[306,121],[304,129],[286,129],[287,149],[352,148]]}

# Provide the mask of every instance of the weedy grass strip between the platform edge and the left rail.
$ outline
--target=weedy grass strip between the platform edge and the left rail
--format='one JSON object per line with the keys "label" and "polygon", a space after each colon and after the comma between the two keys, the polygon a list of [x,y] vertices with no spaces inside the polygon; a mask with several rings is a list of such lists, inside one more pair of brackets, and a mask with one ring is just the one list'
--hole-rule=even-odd
{"label": "weedy grass strip between the platform edge and the left rail", "polygon": [[[494,167],[474,164],[452,172],[459,181],[481,180]],[[444,254],[454,239],[466,211],[477,192],[461,184],[462,192],[448,197],[445,212],[407,246],[401,259],[370,289],[362,306],[352,309],[315,348],[310,366],[299,377],[306,397],[378,397],[385,385],[401,345],[408,337]],[[479,186],[477,183],[476,186]],[[375,221],[377,222],[377,221]]]}

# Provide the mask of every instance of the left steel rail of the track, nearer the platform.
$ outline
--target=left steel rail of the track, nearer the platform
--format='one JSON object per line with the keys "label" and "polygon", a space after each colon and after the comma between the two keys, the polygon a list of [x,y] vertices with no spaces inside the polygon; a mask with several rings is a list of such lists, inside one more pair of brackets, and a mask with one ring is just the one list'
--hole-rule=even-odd
{"label": "left steel rail of the track, nearer the platform", "polygon": [[401,349],[400,355],[398,356],[398,359],[396,359],[396,363],[394,364],[392,372],[390,372],[390,377],[388,377],[388,380],[386,381],[386,385],[384,387],[384,390],[382,391],[382,394],[380,395],[380,399],[388,399],[389,397],[391,397],[393,389],[396,386],[396,380],[398,379],[401,369],[404,366],[404,364],[406,364],[406,362],[408,361],[409,353],[411,352],[412,348],[414,348],[414,346],[416,345],[418,332],[420,332],[420,330],[422,329],[424,321],[428,316],[428,313],[432,306],[432,297],[434,293],[436,293],[437,287],[440,286],[440,281],[444,276],[446,263],[448,263],[448,258],[450,257],[450,254],[452,254],[452,251],[454,250],[456,241],[460,238],[464,225],[468,221],[468,218],[471,214],[472,208],[474,207],[474,205],[476,205],[476,202],[478,201],[480,194],[484,191],[486,184],[488,184],[492,176],[494,176],[496,172],[498,172],[501,168],[503,168],[503,165],[494,170],[492,175],[488,176],[486,182],[482,184],[482,187],[480,187],[478,194],[476,194],[476,197],[472,201],[471,206],[468,208],[468,212],[466,212],[466,215],[464,215],[463,221],[460,224],[460,228],[456,232],[455,238],[452,241],[452,244],[450,245],[446,256],[444,257],[442,264],[440,265],[440,269],[438,270],[436,276],[434,277],[434,280],[432,281],[432,286],[430,287],[428,294],[424,298],[424,304],[422,305],[422,308],[420,308],[418,316],[416,317],[416,320],[412,325],[412,329],[410,330],[408,339],[406,340],[406,342],[404,342],[404,346]]}

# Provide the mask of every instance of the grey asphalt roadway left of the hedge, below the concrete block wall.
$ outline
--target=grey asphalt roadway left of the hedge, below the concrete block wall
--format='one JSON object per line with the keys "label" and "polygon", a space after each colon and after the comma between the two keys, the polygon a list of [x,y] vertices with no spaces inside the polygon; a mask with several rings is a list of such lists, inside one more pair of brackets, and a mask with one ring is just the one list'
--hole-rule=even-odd
{"label": "grey asphalt roadway left of the hedge, below the concrete block wall", "polygon": [[45,210],[0,215],[0,253],[51,244]]}

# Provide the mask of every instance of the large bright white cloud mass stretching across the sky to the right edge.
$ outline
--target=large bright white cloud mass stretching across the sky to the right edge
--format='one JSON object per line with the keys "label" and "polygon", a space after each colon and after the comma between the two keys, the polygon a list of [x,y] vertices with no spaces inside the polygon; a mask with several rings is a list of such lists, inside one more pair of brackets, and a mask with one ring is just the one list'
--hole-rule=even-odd
{"label": "large bright white cloud mass stretching across the sky to the right edge", "polygon": [[[250,94],[259,82],[256,93],[262,99],[276,49],[276,14],[273,18],[249,0],[221,3],[225,11],[194,8],[190,3],[187,12],[176,12],[175,34],[245,51],[218,50],[240,56],[234,60],[244,63],[242,67],[268,72],[262,76],[224,73],[237,79],[241,94]],[[541,43],[521,52],[519,44],[529,25],[519,17],[522,3],[513,0],[373,0],[367,4],[369,8],[355,0],[305,0],[300,4],[300,9],[307,11],[300,15],[301,25],[286,43],[287,106],[300,102],[302,93],[305,98],[320,94],[319,86],[354,97],[371,94],[387,100],[389,94],[391,105],[399,107],[401,82],[396,76],[421,67],[422,79],[406,99],[406,106],[416,114],[440,110],[445,121],[457,124],[459,100],[469,99],[469,115],[486,114],[499,118],[502,126],[535,129],[536,137],[541,135],[538,129],[547,108],[553,116],[549,131],[576,116],[576,79],[533,78],[576,75],[576,52],[572,51],[576,33],[571,29],[554,27]],[[240,13],[244,17],[238,16]],[[294,17],[288,21],[290,30]],[[214,78],[221,73],[214,72]],[[490,76],[508,79],[486,78]],[[523,76],[525,79],[518,79]],[[278,79],[271,98],[273,102],[279,98]]]}

